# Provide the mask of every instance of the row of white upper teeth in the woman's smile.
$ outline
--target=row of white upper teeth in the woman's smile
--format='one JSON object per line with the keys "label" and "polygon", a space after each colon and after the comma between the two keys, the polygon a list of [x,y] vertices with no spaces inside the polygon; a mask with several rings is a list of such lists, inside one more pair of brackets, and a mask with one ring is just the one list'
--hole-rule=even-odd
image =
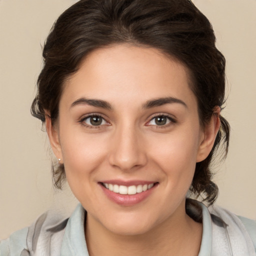
{"label": "row of white upper teeth in the woman's smile", "polygon": [[113,191],[115,193],[119,194],[136,194],[141,193],[143,191],[146,191],[147,189],[150,189],[154,183],[151,184],[144,184],[144,185],[131,185],[131,186],[123,186],[123,185],[116,185],[116,184],[108,184],[103,183],[105,188],[109,189],[110,191]]}

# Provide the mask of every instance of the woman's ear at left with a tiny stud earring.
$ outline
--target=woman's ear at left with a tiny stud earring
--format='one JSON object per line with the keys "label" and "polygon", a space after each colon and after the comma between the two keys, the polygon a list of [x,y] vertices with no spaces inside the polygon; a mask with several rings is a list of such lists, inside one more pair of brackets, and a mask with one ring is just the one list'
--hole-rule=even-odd
{"label": "woman's ear at left with a tiny stud earring", "polygon": [[51,149],[57,159],[61,159],[59,163],[63,162],[62,160],[62,151],[59,143],[58,128],[57,125],[52,124],[49,112],[45,111],[45,128],[49,137]]}

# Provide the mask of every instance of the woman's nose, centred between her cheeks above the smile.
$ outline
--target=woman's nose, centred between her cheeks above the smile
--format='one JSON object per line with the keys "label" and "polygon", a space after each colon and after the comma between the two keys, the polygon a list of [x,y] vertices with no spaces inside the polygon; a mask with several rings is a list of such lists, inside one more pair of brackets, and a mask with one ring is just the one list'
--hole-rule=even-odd
{"label": "woman's nose, centred between her cheeks above the smile", "polygon": [[111,139],[109,163],[123,171],[131,171],[144,166],[146,162],[142,134],[131,125],[116,129]]}

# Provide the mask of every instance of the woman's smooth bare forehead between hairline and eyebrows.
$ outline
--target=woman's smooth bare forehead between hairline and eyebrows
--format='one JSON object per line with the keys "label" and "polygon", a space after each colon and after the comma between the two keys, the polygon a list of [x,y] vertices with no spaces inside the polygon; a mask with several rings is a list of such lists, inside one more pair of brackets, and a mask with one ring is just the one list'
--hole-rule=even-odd
{"label": "woman's smooth bare forehead between hairline and eyebrows", "polygon": [[[194,100],[189,72],[179,61],[151,47],[112,45],[89,53],[69,77],[63,97],[101,98],[112,103],[152,97]],[[192,97],[192,98],[191,98]]]}

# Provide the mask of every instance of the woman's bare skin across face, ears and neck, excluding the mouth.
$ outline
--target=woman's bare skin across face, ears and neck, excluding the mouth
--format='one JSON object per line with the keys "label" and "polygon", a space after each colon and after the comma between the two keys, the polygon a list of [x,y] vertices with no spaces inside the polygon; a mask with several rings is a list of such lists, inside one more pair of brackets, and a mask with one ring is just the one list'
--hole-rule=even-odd
{"label": "woman's bare skin across face, ears and neck, excluding the mouth", "polygon": [[[91,52],[68,79],[54,126],[46,115],[53,152],[87,210],[90,255],[198,254],[202,226],[186,215],[185,195],[195,163],[214,143],[219,108],[202,128],[189,82],[186,67],[157,49],[113,45]],[[148,104],[166,97],[172,101]],[[90,114],[102,123],[92,125]],[[156,116],[167,116],[166,124],[157,125]],[[109,179],[157,185],[127,206],[105,195],[99,182]]]}

